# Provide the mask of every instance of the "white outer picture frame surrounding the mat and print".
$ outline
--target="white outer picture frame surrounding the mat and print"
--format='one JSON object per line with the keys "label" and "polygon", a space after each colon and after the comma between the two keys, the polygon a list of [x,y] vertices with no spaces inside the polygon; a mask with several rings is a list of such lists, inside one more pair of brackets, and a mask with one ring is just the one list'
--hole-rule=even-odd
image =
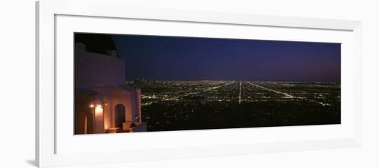
{"label": "white outer picture frame surrounding the mat and print", "polygon": [[[351,34],[351,58],[349,64],[342,67],[351,69],[351,74],[348,75],[351,81],[351,89],[347,91],[349,95],[349,106],[351,106],[351,115],[348,125],[344,128],[345,134],[338,137],[325,136],[309,139],[276,139],[275,141],[252,141],[252,143],[244,141],[229,140],[228,144],[216,143],[200,143],[191,145],[190,142],[182,143],[177,146],[170,147],[145,147],[134,149],[121,149],[112,151],[88,151],[81,152],[66,151],[60,154],[57,152],[57,100],[56,100],[56,82],[57,82],[57,67],[59,64],[55,56],[57,55],[57,17],[59,16],[83,16],[95,19],[132,19],[141,21],[167,21],[181,23],[204,23],[216,25],[236,25],[236,26],[258,26],[258,27],[282,27],[282,28],[298,28],[305,30],[327,30],[349,32]],[[70,19],[69,19],[70,20]],[[190,158],[202,156],[225,156],[233,154],[260,154],[267,152],[288,152],[311,149],[332,149],[340,147],[359,147],[361,145],[361,56],[360,56],[360,38],[361,38],[361,23],[360,21],[342,21],[334,19],[310,19],[302,17],[289,16],[267,16],[259,14],[232,14],[223,12],[205,12],[205,11],[187,11],[174,10],[163,8],[136,8],[128,6],[127,1],[112,0],[42,0],[36,3],[36,163],[39,167],[64,166],[64,165],[87,165],[87,164],[104,164],[104,163],[120,163],[139,160],[161,160],[170,158]],[[118,21],[114,21],[118,22]],[[105,32],[104,32],[105,33]],[[349,38],[350,39],[350,38]],[[72,45],[72,44],[68,44]],[[342,53],[343,54],[343,53]],[[343,70],[343,69],[342,69]],[[343,84],[343,82],[342,82]],[[343,86],[342,86],[343,87]],[[346,90],[346,89],[345,89]],[[342,97],[344,93],[342,92]],[[349,107],[350,108],[350,107]],[[294,132],[304,126],[292,128]],[[252,128],[254,129],[254,128]],[[274,130],[276,132],[290,132],[288,128],[260,128]],[[322,130],[329,128],[312,128],[307,127],[307,130]],[[336,129],[338,130],[338,129]],[[243,132],[248,129],[241,130]],[[305,131],[305,130],[299,130]],[[183,136],[199,136],[199,134],[209,134],[218,132],[217,130],[207,130],[207,132],[185,132],[172,134]],[[232,133],[234,130],[223,130],[222,133]],[[329,132],[333,134],[334,132]],[[171,134],[171,133],[170,133]],[[94,135],[90,139],[97,139],[96,136],[101,136],[103,142],[110,142],[109,139],[116,138],[115,136]],[[122,138],[125,134],[117,135]],[[149,136],[151,139],[154,136],[159,136],[165,139],[166,136],[161,133],[148,134],[147,136],[136,137],[143,139]],[[273,138],[272,136],[271,138]],[[275,138],[275,137],[274,137]],[[178,139],[180,141],[180,139]],[[84,139],[88,141],[88,139]],[[101,143],[101,141],[99,142]],[[118,142],[113,142],[118,143]],[[212,142],[211,142],[212,143]],[[96,143],[94,143],[96,145]],[[68,144],[70,145],[70,144]],[[117,144],[116,144],[117,145]],[[67,146],[67,145],[66,145]],[[112,145],[110,145],[112,146]],[[98,147],[99,150],[101,147]],[[105,147],[104,147],[105,148]]]}

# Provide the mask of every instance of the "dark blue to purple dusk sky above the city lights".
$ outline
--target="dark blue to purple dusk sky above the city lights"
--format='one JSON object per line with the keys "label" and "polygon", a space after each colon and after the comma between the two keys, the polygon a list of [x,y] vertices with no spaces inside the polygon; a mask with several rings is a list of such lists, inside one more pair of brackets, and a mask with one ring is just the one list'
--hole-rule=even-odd
{"label": "dark blue to purple dusk sky above the city lights", "polygon": [[126,78],[340,82],[340,43],[114,35]]}

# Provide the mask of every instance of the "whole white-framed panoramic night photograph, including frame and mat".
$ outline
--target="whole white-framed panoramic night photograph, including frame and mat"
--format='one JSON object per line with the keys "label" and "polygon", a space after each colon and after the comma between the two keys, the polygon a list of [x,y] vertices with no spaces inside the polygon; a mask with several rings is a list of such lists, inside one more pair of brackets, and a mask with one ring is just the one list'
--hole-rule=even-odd
{"label": "whole white-framed panoramic night photograph, including frame and mat", "polygon": [[360,146],[360,21],[36,8],[39,167]]}

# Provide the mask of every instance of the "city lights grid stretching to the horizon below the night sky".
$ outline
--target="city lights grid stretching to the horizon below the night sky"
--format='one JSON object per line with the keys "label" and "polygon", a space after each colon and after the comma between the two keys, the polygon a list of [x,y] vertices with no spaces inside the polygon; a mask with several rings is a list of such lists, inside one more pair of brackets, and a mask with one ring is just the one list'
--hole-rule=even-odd
{"label": "city lights grid stretching to the horizon below the night sky", "polygon": [[147,131],[340,123],[340,84],[134,80]]}

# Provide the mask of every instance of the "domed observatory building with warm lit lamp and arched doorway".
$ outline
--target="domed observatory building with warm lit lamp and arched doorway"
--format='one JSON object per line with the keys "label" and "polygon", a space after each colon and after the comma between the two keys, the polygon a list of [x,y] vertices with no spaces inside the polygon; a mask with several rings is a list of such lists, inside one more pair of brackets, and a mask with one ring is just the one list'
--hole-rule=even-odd
{"label": "domed observatory building with warm lit lamp and arched doorway", "polygon": [[112,37],[74,36],[75,134],[146,131],[141,90],[125,85],[125,60]]}

